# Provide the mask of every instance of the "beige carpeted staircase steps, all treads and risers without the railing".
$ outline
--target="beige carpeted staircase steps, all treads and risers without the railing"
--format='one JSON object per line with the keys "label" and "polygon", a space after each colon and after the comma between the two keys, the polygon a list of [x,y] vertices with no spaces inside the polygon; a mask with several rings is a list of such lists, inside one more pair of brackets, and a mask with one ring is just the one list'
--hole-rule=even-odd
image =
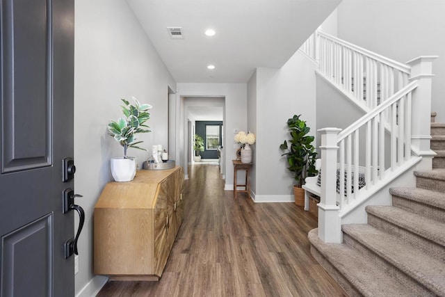
{"label": "beige carpeted staircase steps, all treads and risers without the railing", "polygon": [[432,170],[391,188],[392,206],[367,206],[367,224],[342,225],[343,243],[309,232],[312,255],[350,296],[445,296],[445,124],[431,123]]}

